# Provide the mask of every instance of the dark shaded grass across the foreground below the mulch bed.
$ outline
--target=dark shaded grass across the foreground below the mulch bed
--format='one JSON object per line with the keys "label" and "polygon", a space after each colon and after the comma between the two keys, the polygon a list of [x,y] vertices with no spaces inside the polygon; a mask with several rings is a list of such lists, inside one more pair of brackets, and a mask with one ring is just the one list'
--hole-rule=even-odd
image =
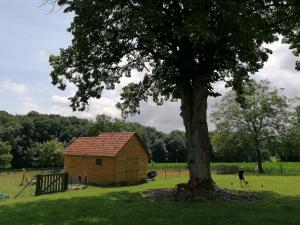
{"label": "dark shaded grass across the foreground below the mulch bed", "polygon": [[264,193],[254,203],[176,203],[151,201],[140,193],[111,192],[93,197],[0,206],[0,224],[40,225],[234,225],[300,224],[300,196]]}

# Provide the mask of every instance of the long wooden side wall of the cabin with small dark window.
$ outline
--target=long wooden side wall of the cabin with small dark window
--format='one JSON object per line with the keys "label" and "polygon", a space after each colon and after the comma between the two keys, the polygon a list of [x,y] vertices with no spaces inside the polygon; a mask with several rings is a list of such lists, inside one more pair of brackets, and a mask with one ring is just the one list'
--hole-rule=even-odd
{"label": "long wooden side wall of the cabin with small dark window", "polygon": [[[96,158],[101,159],[101,165],[96,165]],[[79,176],[84,181],[86,172],[89,183],[110,184],[114,182],[115,158],[65,155],[64,170],[73,182],[78,182]]]}

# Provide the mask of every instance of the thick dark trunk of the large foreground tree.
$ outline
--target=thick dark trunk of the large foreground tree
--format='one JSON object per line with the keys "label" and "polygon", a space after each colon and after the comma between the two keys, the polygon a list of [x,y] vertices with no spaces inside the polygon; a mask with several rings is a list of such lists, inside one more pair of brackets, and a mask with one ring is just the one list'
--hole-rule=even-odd
{"label": "thick dark trunk of the large foreground tree", "polygon": [[209,162],[209,134],[206,121],[207,88],[198,80],[181,93],[181,116],[186,130],[190,180],[198,187],[215,190]]}

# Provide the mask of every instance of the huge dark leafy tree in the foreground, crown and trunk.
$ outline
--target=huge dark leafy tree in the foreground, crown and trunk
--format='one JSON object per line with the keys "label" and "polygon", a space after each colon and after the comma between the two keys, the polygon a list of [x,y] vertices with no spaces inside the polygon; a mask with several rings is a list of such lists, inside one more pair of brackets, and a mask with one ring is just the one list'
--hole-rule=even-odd
{"label": "huge dark leafy tree in the foreground, crown and trunk", "polygon": [[[123,88],[122,115],[141,101],[181,101],[190,179],[215,190],[209,164],[207,98],[226,80],[242,97],[242,84],[261,69],[279,35],[300,52],[298,0],[53,0],[74,15],[72,44],[50,56],[52,83],[77,86],[74,110],[114,89],[132,71],[143,80]],[[53,2],[52,1],[52,2]],[[298,69],[300,65],[298,64]]]}

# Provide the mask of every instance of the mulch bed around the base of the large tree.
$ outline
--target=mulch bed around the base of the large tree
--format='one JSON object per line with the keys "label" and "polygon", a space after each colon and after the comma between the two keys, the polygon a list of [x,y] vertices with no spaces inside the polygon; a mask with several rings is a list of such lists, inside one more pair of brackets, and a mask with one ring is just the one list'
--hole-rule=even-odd
{"label": "mulch bed around the base of the large tree", "polygon": [[232,191],[227,189],[217,189],[215,191],[197,190],[176,191],[175,189],[153,189],[143,192],[143,196],[153,200],[168,200],[176,202],[254,202],[262,199],[258,192]]}

